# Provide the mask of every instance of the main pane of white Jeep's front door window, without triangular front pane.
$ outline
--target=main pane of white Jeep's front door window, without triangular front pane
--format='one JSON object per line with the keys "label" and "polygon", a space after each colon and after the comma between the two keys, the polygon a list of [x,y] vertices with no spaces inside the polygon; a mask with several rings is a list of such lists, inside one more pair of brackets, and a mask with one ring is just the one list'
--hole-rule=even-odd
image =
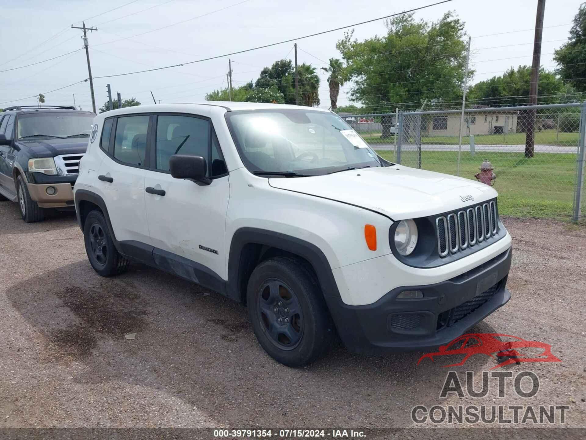
{"label": "main pane of white Jeep's front door window, without triangular front pane", "polygon": [[156,169],[169,171],[169,158],[173,154],[203,156],[209,164],[210,132],[210,123],[206,119],[159,116],[156,123]]}

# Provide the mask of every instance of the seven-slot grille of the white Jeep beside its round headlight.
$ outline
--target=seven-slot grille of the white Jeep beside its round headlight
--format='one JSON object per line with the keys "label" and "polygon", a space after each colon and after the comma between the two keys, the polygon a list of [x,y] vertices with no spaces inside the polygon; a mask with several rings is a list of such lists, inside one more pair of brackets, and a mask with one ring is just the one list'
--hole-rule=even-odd
{"label": "seven-slot grille of the white Jeep beside its round headlight", "polygon": [[495,235],[498,229],[495,201],[451,212],[435,219],[441,257],[462,251]]}

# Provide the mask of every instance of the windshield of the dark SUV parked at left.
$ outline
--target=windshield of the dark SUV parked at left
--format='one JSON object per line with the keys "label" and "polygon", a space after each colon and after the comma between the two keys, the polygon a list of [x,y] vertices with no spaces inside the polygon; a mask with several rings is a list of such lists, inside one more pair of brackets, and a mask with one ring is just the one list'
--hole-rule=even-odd
{"label": "windshield of the dark SUV parked at left", "polygon": [[89,137],[94,115],[91,113],[21,114],[16,126],[19,139],[35,137]]}

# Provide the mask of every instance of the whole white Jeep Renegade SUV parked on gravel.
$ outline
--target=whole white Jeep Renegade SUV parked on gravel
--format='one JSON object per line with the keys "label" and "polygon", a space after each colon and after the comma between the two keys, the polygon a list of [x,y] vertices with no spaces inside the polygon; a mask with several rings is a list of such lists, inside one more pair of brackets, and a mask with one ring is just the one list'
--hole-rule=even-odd
{"label": "whole white Jeep Renegade SUV parked on gravel", "polygon": [[162,104],[99,114],[74,187],[91,266],[144,263],[246,303],[264,350],[437,347],[509,299],[487,185],[389,163],[329,111]]}

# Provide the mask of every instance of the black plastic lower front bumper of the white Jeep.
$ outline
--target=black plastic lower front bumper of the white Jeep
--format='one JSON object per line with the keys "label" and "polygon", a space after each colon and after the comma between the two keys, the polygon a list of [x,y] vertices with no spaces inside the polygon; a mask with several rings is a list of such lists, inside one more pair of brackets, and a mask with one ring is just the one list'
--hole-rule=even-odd
{"label": "black plastic lower front bumper of the white Jeep", "polygon": [[[420,350],[447,344],[505,305],[512,249],[444,282],[402,286],[363,306],[339,303],[336,327],[348,350],[363,354]],[[421,290],[422,299],[397,299]]]}

